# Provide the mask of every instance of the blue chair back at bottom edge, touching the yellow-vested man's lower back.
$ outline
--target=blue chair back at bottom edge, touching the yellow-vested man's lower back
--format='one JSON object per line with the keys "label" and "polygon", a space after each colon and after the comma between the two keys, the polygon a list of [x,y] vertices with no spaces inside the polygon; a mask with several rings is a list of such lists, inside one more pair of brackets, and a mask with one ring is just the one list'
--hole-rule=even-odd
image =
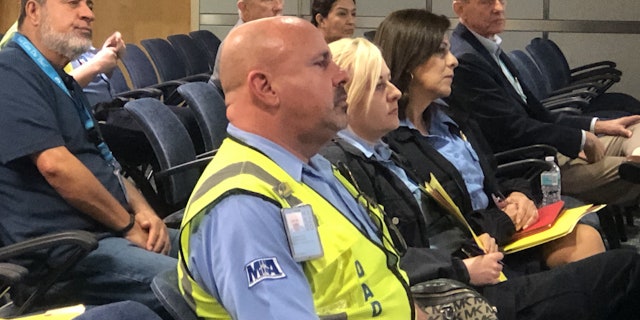
{"label": "blue chair back at bottom edge, touching the yellow-vested man's lower back", "polygon": [[197,320],[195,312],[180,293],[178,271],[173,268],[155,276],[151,290],[175,320]]}

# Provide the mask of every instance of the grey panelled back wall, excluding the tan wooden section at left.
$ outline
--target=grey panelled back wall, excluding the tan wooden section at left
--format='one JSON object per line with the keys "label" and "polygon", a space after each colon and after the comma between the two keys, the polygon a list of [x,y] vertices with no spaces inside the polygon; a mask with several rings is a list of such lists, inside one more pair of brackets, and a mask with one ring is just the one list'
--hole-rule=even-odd
{"label": "grey panelled back wall, excluding the tan wooden section at left", "polygon": [[[193,0],[200,3],[199,25],[220,38],[235,24],[235,0]],[[285,14],[309,18],[310,0],[285,0]],[[375,29],[393,10],[426,8],[456,19],[451,0],[358,0],[356,36]],[[198,17],[194,17],[198,18]],[[508,0],[507,31],[501,36],[505,50],[524,49],[534,37],[547,36],[577,66],[598,60],[613,60],[624,72],[612,89],[640,98],[640,1],[609,0]],[[605,24],[597,24],[605,22]],[[630,22],[630,24],[624,24]],[[599,30],[606,27],[607,30]],[[605,33],[607,32],[607,33]]]}

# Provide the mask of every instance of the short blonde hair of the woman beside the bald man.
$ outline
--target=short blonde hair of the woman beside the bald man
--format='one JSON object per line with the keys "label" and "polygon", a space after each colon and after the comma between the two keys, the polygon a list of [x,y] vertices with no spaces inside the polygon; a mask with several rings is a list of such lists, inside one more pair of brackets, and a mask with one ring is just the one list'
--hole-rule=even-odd
{"label": "short blonde hair of the woman beside the bald man", "polygon": [[369,110],[384,59],[380,49],[365,38],[344,38],[329,44],[333,61],[347,70],[350,80],[347,82],[347,114],[353,114],[361,108]]}

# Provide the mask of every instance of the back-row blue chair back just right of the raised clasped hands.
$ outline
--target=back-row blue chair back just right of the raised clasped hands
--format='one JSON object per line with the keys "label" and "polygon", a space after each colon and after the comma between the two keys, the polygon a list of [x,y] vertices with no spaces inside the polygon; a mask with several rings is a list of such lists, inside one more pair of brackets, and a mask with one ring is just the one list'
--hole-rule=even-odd
{"label": "back-row blue chair back just right of the raised clasped hands", "polygon": [[122,57],[122,64],[127,69],[134,88],[140,89],[158,83],[153,64],[137,45],[127,43],[127,54]]}

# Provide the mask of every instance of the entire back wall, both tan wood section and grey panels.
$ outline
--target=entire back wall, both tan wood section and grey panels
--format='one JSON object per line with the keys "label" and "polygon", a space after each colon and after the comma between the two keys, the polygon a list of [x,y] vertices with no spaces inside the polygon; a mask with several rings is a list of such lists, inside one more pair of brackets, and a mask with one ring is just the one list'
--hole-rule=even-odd
{"label": "entire back wall, both tan wood section and grey panels", "polygon": [[[236,0],[94,0],[96,44],[114,30],[127,42],[186,33],[191,25],[224,38],[237,21]],[[18,0],[0,0],[0,32],[18,15]],[[286,0],[285,14],[309,19],[309,0]],[[191,7],[194,14],[191,15]],[[455,24],[451,0],[358,0],[356,35],[375,29],[385,15],[402,8],[427,8]],[[640,1],[508,0],[506,50],[523,49],[533,37],[548,36],[566,52],[572,66],[613,60],[624,72],[612,90],[640,97]],[[604,30],[606,28],[606,30]],[[602,30],[600,30],[602,29]]]}

